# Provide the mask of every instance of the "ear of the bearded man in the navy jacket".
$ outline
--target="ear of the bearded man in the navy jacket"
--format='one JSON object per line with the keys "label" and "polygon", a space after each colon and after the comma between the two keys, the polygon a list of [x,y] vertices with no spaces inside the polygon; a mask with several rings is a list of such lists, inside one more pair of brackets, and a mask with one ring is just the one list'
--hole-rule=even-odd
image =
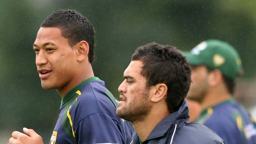
{"label": "ear of the bearded man in the navy jacket", "polygon": [[167,85],[164,83],[159,83],[156,84],[155,86],[152,87],[152,97],[151,101],[152,102],[159,102],[162,99],[165,99],[165,96],[167,96]]}

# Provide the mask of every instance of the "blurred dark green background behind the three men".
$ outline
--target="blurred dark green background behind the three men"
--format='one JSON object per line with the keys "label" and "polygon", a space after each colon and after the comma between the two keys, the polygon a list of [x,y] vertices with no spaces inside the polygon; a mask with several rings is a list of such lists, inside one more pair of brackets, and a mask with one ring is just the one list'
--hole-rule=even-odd
{"label": "blurred dark green background behind the three men", "polygon": [[32,44],[53,11],[76,9],[95,28],[95,76],[117,88],[134,50],[150,42],[190,50],[209,38],[239,52],[244,76],[236,99],[256,115],[255,0],[8,0],[0,3],[0,144],[33,128],[49,143],[61,98],[41,88]]}

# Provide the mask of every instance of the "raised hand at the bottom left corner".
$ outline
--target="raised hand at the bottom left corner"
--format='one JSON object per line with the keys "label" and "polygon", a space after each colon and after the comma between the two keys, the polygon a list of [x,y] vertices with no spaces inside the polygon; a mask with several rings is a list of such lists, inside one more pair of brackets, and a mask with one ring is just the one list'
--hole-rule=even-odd
{"label": "raised hand at the bottom left corner", "polygon": [[23,128],[24,133],[14,131],[9,144],[43,144],[43,139],[33,129]]}

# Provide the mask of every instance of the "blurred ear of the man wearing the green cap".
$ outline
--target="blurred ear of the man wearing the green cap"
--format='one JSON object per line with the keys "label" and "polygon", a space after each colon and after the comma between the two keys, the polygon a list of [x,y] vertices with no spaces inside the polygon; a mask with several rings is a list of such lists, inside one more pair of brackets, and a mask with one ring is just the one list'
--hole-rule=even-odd
{"label": "blurred ear of the man wearing the green cap", "polygon": [[209,80],[208,83],[210,86],[215,87],[215,86],[219,85],[219,83],[221,83],[223,80],[221,71],[218,69],[212,70],[210,72],[208,80]]}

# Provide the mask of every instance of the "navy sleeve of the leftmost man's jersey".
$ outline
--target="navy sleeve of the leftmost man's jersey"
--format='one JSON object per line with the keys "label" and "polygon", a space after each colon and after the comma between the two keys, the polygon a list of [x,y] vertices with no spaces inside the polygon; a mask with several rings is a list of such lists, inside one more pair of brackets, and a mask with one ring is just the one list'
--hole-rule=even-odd
{"label": "navy sleeve of the leftmost man's jersey", "polygon": [[78,144],[124,144],[120,128],[106,113],[94,113],[82,119],[74,132]]}

